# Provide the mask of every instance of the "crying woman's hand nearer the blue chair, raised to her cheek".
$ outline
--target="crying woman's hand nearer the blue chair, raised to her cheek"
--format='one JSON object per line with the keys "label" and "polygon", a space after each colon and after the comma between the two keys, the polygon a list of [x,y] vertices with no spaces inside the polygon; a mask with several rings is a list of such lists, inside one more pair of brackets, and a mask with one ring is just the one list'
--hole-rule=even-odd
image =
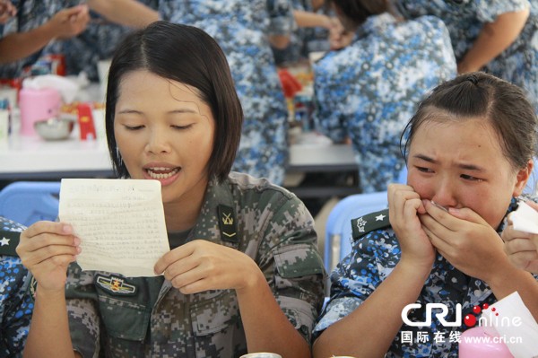
{"label": "crying woman's hand nearer the blue chair, raised to her cheek", "polygon": [[389,221],[402,250],[400,262],[431,270],[436,250],[419,220],[419,214],[426,214],[421,196],[404,184],[390,184],[387,192]]}

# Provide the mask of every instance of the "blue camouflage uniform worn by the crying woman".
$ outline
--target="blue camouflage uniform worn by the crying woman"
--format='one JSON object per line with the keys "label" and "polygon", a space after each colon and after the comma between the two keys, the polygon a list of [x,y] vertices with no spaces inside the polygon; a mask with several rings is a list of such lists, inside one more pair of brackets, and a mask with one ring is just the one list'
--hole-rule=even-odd
{"label": "blue camouflage uniform worn by the crying woman", "polygon": [[[516,199],[513,199],[508,207],[507,215],[515,209]],[[331,274],[331,298],[317,322],[315,337],[319,336],[326,327],[343,319],[359,307],[390,275],[401,257],[395,231],[388,222],[388,210],[354,219],[351,225],[353,225],[354,240],[352,251],[349,256],[343,258]],[[505,225],[506,216],[497,231],[500,233]],[[386,358],[457,358],[459,339],[463,331],[468,328],[463,318],[466,315],[472,315],[478,322],[479,315],[473,313],[473,307],[482,308],[484,303],[490,305],[496,301],[487,284],[465,275],[438,254],[430,276],[416,301],[421,303],[422,310],[411,310],[408,319],[413,322],[424,322],[426,304],[444,303],[448,308],[446,321],[455,322],[456,303],[461,303],[463,323],[460,327],[443,327],[435,317],[438,311],[434,311],[429,327],[411,327],[404,324],[395,336]],[[411,337],[412,342],[409,342],[406,336]]]}

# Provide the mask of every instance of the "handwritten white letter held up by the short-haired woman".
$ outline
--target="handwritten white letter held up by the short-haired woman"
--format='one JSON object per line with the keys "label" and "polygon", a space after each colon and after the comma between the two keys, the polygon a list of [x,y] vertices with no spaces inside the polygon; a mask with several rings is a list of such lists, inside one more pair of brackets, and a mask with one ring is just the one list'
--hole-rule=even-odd
{"label": "handwritten white letter held up by the short-haired woman", "polygon": [[157,180],[62,179],[59,219],[81,239],[82,270],[154,276],[169,251]]}

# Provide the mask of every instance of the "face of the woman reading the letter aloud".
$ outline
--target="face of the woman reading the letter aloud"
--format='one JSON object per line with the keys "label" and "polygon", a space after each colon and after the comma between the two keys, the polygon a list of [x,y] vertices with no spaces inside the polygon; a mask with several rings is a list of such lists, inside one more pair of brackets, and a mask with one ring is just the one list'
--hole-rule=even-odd
{"label": "face of the woman reading the letter aloud", "polygon": [[197,90],[145,70],[119,85],[114,134],[133,179],[161,182],[162,201],[204,196],[213,152],[214,119]]}

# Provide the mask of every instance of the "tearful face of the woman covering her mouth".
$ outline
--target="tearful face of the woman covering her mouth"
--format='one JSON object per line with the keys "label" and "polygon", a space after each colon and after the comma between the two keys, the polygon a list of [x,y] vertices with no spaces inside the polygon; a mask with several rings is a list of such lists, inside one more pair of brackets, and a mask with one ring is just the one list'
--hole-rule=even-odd
{"label": "tearful face of the woman covering her mouth", "polygon": [[[407,183],[422,199],[472,209],[497,228],[528,170],[514,170],[483,119],[424,122],[409,148]],[[531,168],[532,169],[532,168]]]}

